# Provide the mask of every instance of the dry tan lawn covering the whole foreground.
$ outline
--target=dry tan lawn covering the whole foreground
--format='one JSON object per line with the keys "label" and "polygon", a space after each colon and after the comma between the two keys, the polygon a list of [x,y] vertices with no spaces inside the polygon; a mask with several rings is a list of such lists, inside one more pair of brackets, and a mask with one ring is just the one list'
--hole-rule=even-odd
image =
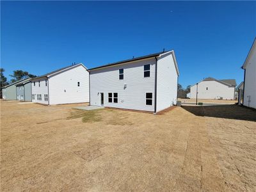
{"label": "dry tan lawn covering the whole foreground", "polygon": [[251,109],[74,106],[1,101],[1,191],[256,191]]}

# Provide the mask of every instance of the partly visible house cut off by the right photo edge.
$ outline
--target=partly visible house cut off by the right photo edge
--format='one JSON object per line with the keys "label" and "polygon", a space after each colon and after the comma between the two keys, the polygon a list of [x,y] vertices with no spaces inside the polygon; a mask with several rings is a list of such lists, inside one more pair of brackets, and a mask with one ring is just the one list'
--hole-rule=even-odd
{"label": "partly visible house cut off by the right photo edge", "polygon": [[244,61],[243,105],[256,109],[256,38]]}

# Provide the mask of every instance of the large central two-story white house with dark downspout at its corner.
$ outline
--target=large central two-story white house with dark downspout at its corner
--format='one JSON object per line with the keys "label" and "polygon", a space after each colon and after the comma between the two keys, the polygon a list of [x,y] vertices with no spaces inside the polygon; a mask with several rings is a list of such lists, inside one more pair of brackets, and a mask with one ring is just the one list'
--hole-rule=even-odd
{"label": "large central two-story white house with dark downspout at its corner", "polygon": [[89,69],[90,105],[157,113],[177,102],[174,51]]}

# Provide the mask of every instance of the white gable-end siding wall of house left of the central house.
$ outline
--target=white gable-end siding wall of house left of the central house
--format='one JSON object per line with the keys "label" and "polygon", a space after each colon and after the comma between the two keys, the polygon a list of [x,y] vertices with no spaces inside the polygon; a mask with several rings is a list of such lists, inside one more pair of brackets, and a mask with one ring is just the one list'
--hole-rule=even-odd
{"label": "white gable-end siding wall of house left of the central house", "polygon": [[82,65],[50,76],[48,86],[50,105],[89,102],[89,73]]}

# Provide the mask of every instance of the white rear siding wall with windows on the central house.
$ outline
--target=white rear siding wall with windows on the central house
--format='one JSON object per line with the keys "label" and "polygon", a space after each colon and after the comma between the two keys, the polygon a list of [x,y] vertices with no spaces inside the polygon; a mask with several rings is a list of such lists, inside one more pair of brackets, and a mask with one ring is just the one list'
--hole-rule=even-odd
{"label": "white rear siding wall with windows on the central house", "polygon": [[[150,64],[150,77],[145,78],[144,65],[147,64]],[[90,104],[100,106],[100,93],[104,93],[106,107],[154,111],[155,65],[155,58],[150,58],[90,71]],[[124,68],[122,81],[119,79],[120,68]],[[109,102],[108,93],[112,93],[112,102]],[[114,93],[118,93],[117,103]],[[146,105],[146,93],[152,93],[152,106]]]}

